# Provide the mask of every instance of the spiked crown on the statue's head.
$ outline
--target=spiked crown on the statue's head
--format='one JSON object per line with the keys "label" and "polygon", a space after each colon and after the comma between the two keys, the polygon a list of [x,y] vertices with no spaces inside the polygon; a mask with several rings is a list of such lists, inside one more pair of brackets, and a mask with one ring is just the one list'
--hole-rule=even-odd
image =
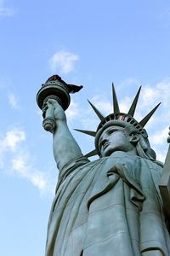
{"label": "spiked crown on the statue's head", "polygon": [[[79,130],[79,129],[75,129],[76,131],[80,131],[82,133],[88,134],[89,136],[95,137],[95,149],[91,152],[89,152],[88,154],[86,154],[87,157],[93,156],[95,154],[99,154],[99,137],[101,136],[102,132],[105,131],[105,129],[109,126],[112,125],[119,125],[122,127],[128,127],[128,131],[130,133],[130,131],[137,131],[139,134],[142,135],[142,137],[147,138],[147,132],[144,130],[144,125],[147,124],[147,122],[150,120],[150,117],[153,115],[153,113],[155,113],[156,109],[159,107],[159,105],[161,103],[159,103],[158,105],[156,105],[155,108],[153,108],[150,113],[148,113],[144,119],[142,119],[141,121],[137,121],[136,119],[133,118],[138,100],[139,100],[139,93],[141,90],[141,86],[139,87],[139,90],[136,94],[136,96],[133,99],[133,103],[131,105],[131,107],[129,108],[127,113],[121,113],[120,109],[119,109],[119,104],[117,102],[117,97],[116,97],[116,90],[114,87],[114,84],[112,84],[112,96],[113,96],[113,113],[107,115],[106,117],[104,117],[104,115],[102,113],[99,112],[99,110],[91,103],[89,102],[89,104],[91,105],[91,107],[94,109],[94,112],[97,114],[97,116],[100,119],[100,123],[98,125],[98,128],[96,131],[85,131],[85,130]],[[133,129],[131,129],[133,128]]]}

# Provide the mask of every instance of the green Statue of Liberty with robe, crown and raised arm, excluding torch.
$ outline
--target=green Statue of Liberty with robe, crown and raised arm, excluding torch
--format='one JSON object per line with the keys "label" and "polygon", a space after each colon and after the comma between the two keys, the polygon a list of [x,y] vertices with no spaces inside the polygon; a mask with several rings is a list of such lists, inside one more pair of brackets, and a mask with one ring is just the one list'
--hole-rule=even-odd
{"label": "green Statue of Liberty with robe, crown and raised arm, excluding torch", "polygon": [[[53,82],[65,83],[58,76]],[[100,123],[96,131],[78,130],[94,137],[87,155],[71,135],[62,104],[50,96],[43,102],[43,116],[50,112],[54,120],[59,169],[46,256],[170,255],[169,215],[159,189],[163,165],[144,130],[159,104],[137,121],[139,92],[127,113],[119,109],[114,86],[113,113],[105,117],[90,102]],[[88,160],[94,154],[99,159]]]}

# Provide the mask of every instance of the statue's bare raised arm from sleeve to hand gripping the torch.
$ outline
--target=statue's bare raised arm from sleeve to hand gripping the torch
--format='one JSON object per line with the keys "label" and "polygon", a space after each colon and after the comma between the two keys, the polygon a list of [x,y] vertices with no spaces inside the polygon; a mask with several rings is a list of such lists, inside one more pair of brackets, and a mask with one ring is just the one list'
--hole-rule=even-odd
{"label": "statue's bare raised arm from sleeve to hand gripping the torch", "polygon": [[51,108],[54,113],[54,119],[56,122],[53,149],[54,159],[60,170],[69,161],[81,157],[82,151],[67,126],[65,111],[63,108],[54,99],[48,99],[43,107],[43,111],[47,111],[48,108]]}

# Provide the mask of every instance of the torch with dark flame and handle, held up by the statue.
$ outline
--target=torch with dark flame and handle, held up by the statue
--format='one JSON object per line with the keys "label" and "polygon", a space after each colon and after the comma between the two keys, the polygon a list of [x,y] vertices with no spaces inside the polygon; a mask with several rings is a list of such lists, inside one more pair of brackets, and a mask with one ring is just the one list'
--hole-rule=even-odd
{"label": "torch with dark flame and handle, held up by the statue", "polygon": [[[42,84],[42,88],[37,92],[37,105],[39,108],[43,108],[44,103],[48,99],[54,99],[59,102],[59,105],[66,110],[71,102],[70,93],[75,93],[82,89],[82,85],[66,84],[59,75],[53,75],[45,84]],[[53,132],[55,129],[54,110],[48,108],[43,115],[42,126],[46,131]]]}

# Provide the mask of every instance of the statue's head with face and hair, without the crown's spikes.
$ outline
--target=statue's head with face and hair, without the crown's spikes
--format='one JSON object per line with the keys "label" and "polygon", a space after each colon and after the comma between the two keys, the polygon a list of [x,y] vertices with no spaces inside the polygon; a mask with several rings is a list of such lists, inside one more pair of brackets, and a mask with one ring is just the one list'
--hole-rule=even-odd
{"label": "statue's head with face and hair, without the crown's spikes", "polygon": [[146,131],[141,134],[133,125],[123,121],[108,122],[97,133],[95,146],[100,157],[110,156],[115,151],[123,151],[148,159],[156,159],[156,153],[150,148]]}

